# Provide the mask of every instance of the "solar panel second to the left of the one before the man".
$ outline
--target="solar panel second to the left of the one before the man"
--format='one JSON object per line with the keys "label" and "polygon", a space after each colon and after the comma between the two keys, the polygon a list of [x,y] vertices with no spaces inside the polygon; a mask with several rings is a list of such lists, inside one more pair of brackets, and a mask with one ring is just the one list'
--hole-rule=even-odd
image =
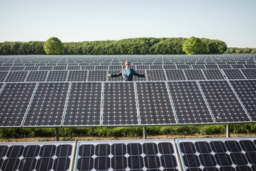
{"label": "solar panel second to the left of the one before the man", "polygon": [[70,83],[39,83],[23,126],[60,126]]}

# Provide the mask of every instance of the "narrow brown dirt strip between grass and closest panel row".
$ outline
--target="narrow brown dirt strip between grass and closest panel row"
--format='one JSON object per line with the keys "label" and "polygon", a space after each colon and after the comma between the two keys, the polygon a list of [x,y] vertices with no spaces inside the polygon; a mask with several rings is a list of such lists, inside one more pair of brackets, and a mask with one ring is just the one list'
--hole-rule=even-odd
{"label": "narrow brown dirt strip between grass and closest panel row", "polygon": [[[147,136],[147,139],[191,139],[191,138],[219,138],[226,137],[226,134],[213,135],[159,135]],[[256,134],[231,134],[231,137],[256,137]],[[143,137],[60,137],[60,141],[104,141],[104,140],[125,140],[125,139],[143,139]],[[38,142],[38,141],[56,141],[56,137],[36,137],[23,139],[3,139],[0,142]]]}

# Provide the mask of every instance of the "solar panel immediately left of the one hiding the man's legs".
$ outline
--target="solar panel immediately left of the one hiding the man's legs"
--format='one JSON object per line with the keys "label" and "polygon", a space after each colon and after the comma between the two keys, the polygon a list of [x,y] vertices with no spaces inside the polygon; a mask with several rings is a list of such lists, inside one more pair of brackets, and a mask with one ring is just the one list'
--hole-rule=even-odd
{"label": "solar panel immediately left of the one hiding the man's legs", "polygon": [[64,117],[64,126],[100,125],[103,83],[72,83]]}

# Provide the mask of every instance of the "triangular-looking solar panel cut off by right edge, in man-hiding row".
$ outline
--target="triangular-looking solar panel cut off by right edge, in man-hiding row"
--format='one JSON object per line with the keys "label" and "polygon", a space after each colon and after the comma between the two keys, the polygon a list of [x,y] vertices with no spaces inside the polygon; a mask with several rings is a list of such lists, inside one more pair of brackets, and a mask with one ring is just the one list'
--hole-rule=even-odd
{"label": "triangular-looking solar panel cut off by right edge, in man-hiding row", "polygon": [[250,118],[256,121],[256,80],[230,81]]}

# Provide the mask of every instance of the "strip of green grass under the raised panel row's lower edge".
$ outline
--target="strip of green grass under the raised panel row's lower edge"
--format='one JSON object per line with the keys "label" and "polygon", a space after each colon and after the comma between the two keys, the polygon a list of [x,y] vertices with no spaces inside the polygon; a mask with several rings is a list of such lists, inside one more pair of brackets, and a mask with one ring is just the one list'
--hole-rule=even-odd
{"label": "strip of green grass under the raised panel row's lower edge", "polygon": [[[224,134],[226,125],[148,126],[148,135]],[[231,124],[235,134],[256,134],[256,123]],[[142,137],[142,127],[59,128],[60,137]],[[55,128],[1,128],[1,138],[55,137]]]}

